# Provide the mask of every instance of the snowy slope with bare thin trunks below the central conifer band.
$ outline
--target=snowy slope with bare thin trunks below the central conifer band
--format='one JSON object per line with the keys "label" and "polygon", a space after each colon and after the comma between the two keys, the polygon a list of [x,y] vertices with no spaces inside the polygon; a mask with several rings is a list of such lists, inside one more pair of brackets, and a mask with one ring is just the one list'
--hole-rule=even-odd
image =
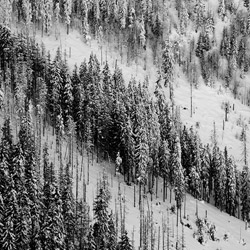
{"label": "snowy slope with bare thin trunks below the central conifer band", "polygon": [[[56,137],[52,135],[52,128],[47,127],[46,133],[42,136],[42,144],[45,142],[48,143],[49,151],[50,151],[50,160],[55,164],[55,166],[59,166],[59,158],[56,152]],[[67,142],[64,141],[62,144],[62,156],[63,163],[67,162],[68,157],[68,147]],[[72,169],[73,179],[76,180],[77,166],[79,173],[79,182],[78,182],[78,198],[83,197],[83,179],[85,179],[85,183],[88,183],[87,176],[87,156],[86,152],[84,152],[83,157],[80,155],[78,150],[76,149],[76,145],[74,145],[73,150],[73,166]],[[92,158],[92,157],[91,157]],[[90,160],[90,172],[89,172],[89,184],[86,186],[86,201],[90,205],[90,219],[93,219],[93,211],[92,205],[93,200],[96,196],[97,192],[97,180],[100,179],[105,172],[108,177],[108,182],[110,184],[110,191],[112,195],[112,199],[110,202],[110,209],[118,212],[118,216],[120,216],[120,205],[119,198],[125,200],[125,227],[129,233],[130,239],[134,239],[135,249],[138,249],[139,246],[139,235],[140,235],[140,211],[139,211],[139,194],[138,194],[138,186],[127,186],[123,181],[122,175],[115,175],[115,165],[108,161],[100,160],[97,162],[96,155],[94,155],[92,160]],[[162,249],[162,220],[164,218],[164,222],[167,220],[167,209],[175,203],[174,199],[172,199],[172,203],[170,203],[170,190],[168,189],[168,199],[166,202],[163,202],[162,198],[162,186],[163,181],[159,180],[159,191],[158,197],[156,198],[153,195],[153,201],[151,202],[151,197],[149,194],[144,196],[143,204],[145,209],[145,214],[147,214],[148,209],[153,212],[153,222],[155,228],[155,238],[156,245],[155,249],[158,249],[158,237],[160,232],[160,244],[159,249]],[[120,187],[120,195],[119,195],[119,187]],[[134,207],[134,188],[136,190],[136,200]],[[154,190],[156,191],[156,190]],[[74,182],[73,192],[76,194],[76,182]],[[122,201],[122,206],[123,206]],[[195,225],[196,221],[196,206],[198,206],[198,216],[200,218],[205,218],[207,215],[207,221],[210,224],[215,224],[216,232],[215,237],[216,241],[212,241],[206,236],[205,244],[201,245],[194,237],[193,234],[197,230]],[[123,208],[122,208],[123,210]],[[247,250],[250,246],[250,229],[245,230],[245,223],[241,220],[238,220],[235,217],[229,216],[227,213],[220,212],[217,208],[212,206],[211,204],[205,203],[203,201],[196,201],[192,196],[186,196],[186,217],[187,219],[183,219],[184,224],[189,224],[192,228],[184,226],[184,234],[185,234],[185,246],[187,250],[214,250],[214,249],[223,249],[223,250]],[[184,210],[182,210],[182,216],[184,215]],[[176,214],[170,213],[169,218],[169,226],[170,226],[170,241],[175,242],[177,240],[177,227],[176,227]],[[178,239],[181,241],[182,229],[181,224],[179,223],[178,227]],[[225,240],[225,235],[228,235],[228,239]],[[166,232],[165,232],[165,240],[166,240]],[[166,244],[165,244],[166,247]],[[175,247],[175,246],[174,246]]]}

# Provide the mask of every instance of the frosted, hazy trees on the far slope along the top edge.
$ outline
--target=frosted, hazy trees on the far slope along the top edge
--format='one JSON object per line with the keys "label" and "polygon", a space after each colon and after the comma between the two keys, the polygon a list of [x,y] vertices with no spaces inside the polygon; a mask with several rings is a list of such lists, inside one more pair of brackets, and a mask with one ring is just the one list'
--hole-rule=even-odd
{"label": "frosted, hazy trees on the far slope along the top edge", "polygon": [[[177,19],[171,17],[170,7],[177,12]],[[189,65],[195,63],[199,68],[197,73],[207,85],[213,85],[219,78],[236,97],[239,87],[236,76],[244,78],[249,70],[248,9],[248,1],[239,9],[234,1],[224,0],[219,1],[218,15],[206,9],[204,0],[15,0],[2,5],[0,22],[8,27],[13,17],[17,17],[18,22],[27,27],[28,34],[33,27],[47,35],[55,31],[57,38],[60,23],[67,27],[67,33],[74,27],[86,41],[90,36],[101,44],[115,41],[121,60],[123,54],[127,54],[127,64],[143,58],[145,67],[147,49],[153,51],[154,63],[159,66],[165,39],[170,39],[174,44],[175,61],[184,72],[188,74]],[[216,19],[222,24],[230,20],[219,40],[215,31]],[[187,30],[192,27],[198,36],[186,39]],[[176,36],[172,35],[173,30]],[[243,99],[249,105],[249,94]]]}

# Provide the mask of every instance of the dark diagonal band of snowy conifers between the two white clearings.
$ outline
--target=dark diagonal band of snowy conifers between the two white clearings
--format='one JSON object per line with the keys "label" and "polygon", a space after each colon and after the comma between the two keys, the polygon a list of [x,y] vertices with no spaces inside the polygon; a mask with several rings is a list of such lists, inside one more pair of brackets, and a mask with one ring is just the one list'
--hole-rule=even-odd
{"label": "dark diagonal band of snowy conifers between the two white clearings", "polygon": [[[9,34],[4,27],[2,32]],[[59,49],[52,60],[32,40],[6,36],[8,49],[4,49],[1,70],[4,94],[13,96],[20,119],[34,106],[39,119],[54,127],[58,148],[65,136],[72,140],[75,133],[78,149],[86,149],[88,158],[96,153],[97,158],[106,155],[115,160],[120,152],[121,172],[128,183],[139,183],[152,192],[157,178],[163,177],[164,185],[174,189],[178,204],[186,191],[207,201],[212,195],[221,210],[235,215],[241,208],[242,218],[248,219],[246,146],[245,168],[239,173],[226,148],[218,149],[215,127],[212,144],[207,146],[193,128],[182,128],[178,109],[172,100],[168,104],[163,91],[163,84],[171,85],[169,72],[157,81],[152,98],[147,78],[143,83],[131,79],[126,86],[117,66],[113,72],[107,62],[102,68],[93,54],[71,74]],[[163,60],[165,55],[164,50]],[[167,71],[171,60],[167,56],[163,63]],[[244,145],[245,134],[243,130]]]}

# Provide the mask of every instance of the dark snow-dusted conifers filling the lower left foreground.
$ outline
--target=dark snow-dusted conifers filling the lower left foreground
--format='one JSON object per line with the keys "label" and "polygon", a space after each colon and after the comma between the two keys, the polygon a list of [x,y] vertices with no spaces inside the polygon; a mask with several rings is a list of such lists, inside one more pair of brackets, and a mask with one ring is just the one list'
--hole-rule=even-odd
{"label": "dark snow-dusted conifers filling the lower left foreground", "polygon": [[[71,167],[60,175],[49,161],[44,145],[42,171],[35,133],[26,112],[14,143],[10,119],[2,127],[0,142],[0,247],[11,249],[120,249],[131,250],[127,233],[118,241],[111,198],[105,175],[94,201],[94,220],[89,205],[73,197]],[[61,168],[61,166],[60,166]],[[41,172],[43,175],[41,175]]]}

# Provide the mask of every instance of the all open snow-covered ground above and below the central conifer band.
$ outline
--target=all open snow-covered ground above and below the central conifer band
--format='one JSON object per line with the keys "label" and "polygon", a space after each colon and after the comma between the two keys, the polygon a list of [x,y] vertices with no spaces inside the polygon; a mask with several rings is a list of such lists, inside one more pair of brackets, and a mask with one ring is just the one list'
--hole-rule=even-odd
{"label": "all open snow-covered ground above and below the central conifer band", "polygon": [[[65,30],[61,29],[60,39],[56,40],[54,36],[44,36],[41,37],[41,34],[37,33],[36,40],[38,43],[43,42],[46,50],[50,51],[52,58],[56,53],[57,48],[60,46],[62,51],[67,52],[68,57],[67,61],[70,69],[73,68],[75,64],[80,66],[80,63],[86,59],[88,60],[90,53],[93,52],[97,55],[98,59],[101,61],[101,49],[97,41],[92,40],[90,44],[85,44],[82,41],[81,35],[77,31],[71,31],[69,35],[66,35]],[[143,81],[145,76],[149,76],[150,81],[150,90],[153,92],[155,87],[155,80],[157,79],[157,69],[152,64],[150,65],[150,60],[148,60],[147,71],[143,70],[142,66],[136,66],[133,64],[130,67],[121,63],[121,57],[118,53],[115,52],[115,49],[112,48],[112,45],[103,45],[103,55],[105,59],[108,60],[110,67],[114,67],[116,60],[117,65],[122,68],[122,72],[125,78],[126,83],[131,79],[131,76],[134,76],[137,80]],[[107,51],[107,52],[106,52]],[[70,55],[70,56],[69,56]],[[103,56],[104,57],[104,56]],[[193,89],[193,107],[194,113],[192,117],[190,115],[190,86],[187,83],[186,79],[180,74],[176,78],[175,84],[175,101],[176,104],[180,106],[181,121],[183,124],[188,126],[195,126],[198,129],[199,135],[203,143],[210,142],[210,136],[213,130],[213,124],[215,122],[217,128],[218,142],[220,147],[227,146],[228,151],[232,154],[238,163],[241,162],[241,142],[236,137],[240,134],[241,126],[239,126],[240,121],[249,123],[249,108],[242,105],[240,101],[235,100],[232,95],[226,91],[220,85],[216,84],[214,88],[204,86],[201,84],[198,89]],[[166,95],[168,92],[166,90]],[[225,129],[222,129],[222,121],[225,115],[224,110],[221,108],[222,102],[229,101],[230,105],[233,106],[234,110],[231,108],[229,113],[229,121],[225,123]],[[46,135],[43,136],[43,143],[47,141],[50,148],[50,157],[52,162],[56,164],[58,161],[58,155],[55,153],[55,136],[52,135],[52,129],[46,130]],[[248,146],[249,146],[249,135],[248,135]],[[67,158],[67,144],[66,142],[62,147],[62,155],[64,160]],[[83,178],[87,180],[87,156],[80,156],[77,152],[77,149],[74,149],[74,169],[73,169],[73,178],[76,180],[76,169],[78,167],[78,172],[80,173],[80,180],[78,182],[79,195],[82,197],[83,194]],[[129,237],[132,239],[132,234],[134,231],[134,245],[135,249],[138,249],[139,246],[139,224],[140,224],[140,213],[138,206],[138,186],[134,187],[127,186],[123,181],[122,176],[114,177],[115,166],[113,163],[102,160],[101,162],[96,161],[96,156],[94,155],[94,161],[90,163],[90,175],[89,175],[89,184],[87,185],[87,202],[92,206],[93,199],[96,195],[96,184],[98,177],[101,177],[102,172],[107,173],[109,177],[110,189],[112,194],[110,208],[115,211],[117,209],[118,203],[118,190],[120,186],[121,196],[125,199],[126,206],[126,229],[129,232]],[[150,196],[145,196],[144,204],[145,209],[152,207],[154,225],[156,227],[156,238],[158,239],[158,230],[160,228],[160,248],[162,249],[162,218],[167,217],[167,208],[171,207],[169,199],[166,202],[162,202],[162,182],[159,182],[159,192],[158,198],[153,197],[153,202],[150,201]],[[136,188],[136,207],[134,207],[134,188]],[[74,192],[76,192],[76,182],[74,182]],[[168,190],[169,192],[169,190]],[[168,193],[169,198],[169,193]],[[149,205],[148,205],[149,204]],[[205,218],[207,213],[207,219],[210,223],[214,223],[216,226],[215,236],[218,241],[209,240],[201,245],[196,239],[193,238],[193,233],[197,230],[195,226],[196,219],[196,200],[187,195],[186,198],[186,215],[189,217],[188,223],[192,226],[192,229],[184,227],[185,232],[185,242],[187,249],[198,250],[198,249],[249,249],[250,246],[250,229],[245,230],[245,224],[243,221],[238,220],[234,217],[229,216],[224,212],[220,212],[214,206],[207,204],[203,201],[197,201],[198,204],[198,213],[201,218]],[[92,210],[90,210],[90,214]],[[93,218],[93,214],[91,214]],[[187,221],[185,220],[185,223]],[[171,240],[176,239],[177,237],[177,228],[176,228],[176,215],[170,215],[170,226],[171,226]],[[228,235],[228,240],[224,240],[224,235]],[[172,237],[174,235],[174,237]],[[179,238],[181,235],[181,227],[179,226]],[[243,240],[244,239],[244,240]],[[158,244],[158,243],[156,243]],[[157,248],[156,248],[157,249]]]}

